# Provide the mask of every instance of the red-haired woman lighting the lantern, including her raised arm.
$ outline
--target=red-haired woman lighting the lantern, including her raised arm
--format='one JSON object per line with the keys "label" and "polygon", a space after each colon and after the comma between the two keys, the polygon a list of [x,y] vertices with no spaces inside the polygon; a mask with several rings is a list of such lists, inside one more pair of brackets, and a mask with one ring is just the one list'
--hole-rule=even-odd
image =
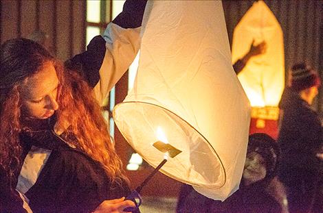
{"label": "red-haired woman lighting the lantern, including her raised arm", "polygon": [[101,101],[135,58],[145,3],[126,1],[107,42],[97,39],[102,57],[80,54],[79,62],[96,62],[78,72],[32,40],[1,45],[0,212],[123,212],[134,205],[118,199],[130,190],[92,95]]}

